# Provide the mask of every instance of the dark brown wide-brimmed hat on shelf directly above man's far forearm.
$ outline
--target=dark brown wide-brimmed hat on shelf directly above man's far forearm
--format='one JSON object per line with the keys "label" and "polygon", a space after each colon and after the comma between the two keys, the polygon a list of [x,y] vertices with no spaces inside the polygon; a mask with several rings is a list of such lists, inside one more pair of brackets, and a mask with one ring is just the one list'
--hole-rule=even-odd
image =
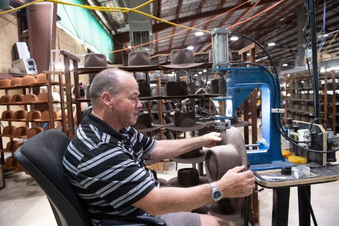
{"label": "dark brown wide-brimmed hat on shelf directly above man's far forearm", "polygon": [[205,123],[197,122],[192,111],[189,112],[175,112],[174,123],[166,124],[165,128],[174,131],[195,131],[206,127]]}

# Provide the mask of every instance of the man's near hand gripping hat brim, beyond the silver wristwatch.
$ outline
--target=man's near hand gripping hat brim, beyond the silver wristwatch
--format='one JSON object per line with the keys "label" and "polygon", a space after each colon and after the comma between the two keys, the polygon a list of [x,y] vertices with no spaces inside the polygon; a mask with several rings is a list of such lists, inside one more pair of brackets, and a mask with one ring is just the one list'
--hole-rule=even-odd
{"label": "man's near hand gripping hat brim, beyond the silver wristwatch", "polygon": [[216,181],[223,197],[245,197],[252,194],[255,178],[252,171],[243,172],[244,169],[245,166],[236,166]]}

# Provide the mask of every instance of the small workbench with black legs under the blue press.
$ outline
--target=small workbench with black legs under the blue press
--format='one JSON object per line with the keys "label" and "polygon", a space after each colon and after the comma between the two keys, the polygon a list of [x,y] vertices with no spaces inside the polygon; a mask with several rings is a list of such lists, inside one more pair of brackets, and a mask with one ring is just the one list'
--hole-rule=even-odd
{"label": "small workbench with black legs under the blue press", "polygon": [[[298,187],[299,226],[310,226],[310,185],[338,181],[339,166],[324,166],[316,163],[309,166],[311,177],[295,179],[291,175],[281,175],[280,169],[253,171],[256,183],[263,188],[273,189],[272,226],[287,226],[290,202],[290,187]],[[285,176],[286,180],[265,179],[264,176]]]}

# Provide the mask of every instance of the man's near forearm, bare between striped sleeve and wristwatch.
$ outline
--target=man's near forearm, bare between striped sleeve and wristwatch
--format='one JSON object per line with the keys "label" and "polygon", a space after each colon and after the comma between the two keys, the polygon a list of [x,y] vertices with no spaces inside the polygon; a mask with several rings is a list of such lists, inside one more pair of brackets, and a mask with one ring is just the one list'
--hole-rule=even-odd
{"label": "man's near forearm, bare between striped sleeve and wristwatch", "polygon": [[191,188],[154,188],[133,206],[151,215],[191,211],[212,202],[211,191],[209,184]]}

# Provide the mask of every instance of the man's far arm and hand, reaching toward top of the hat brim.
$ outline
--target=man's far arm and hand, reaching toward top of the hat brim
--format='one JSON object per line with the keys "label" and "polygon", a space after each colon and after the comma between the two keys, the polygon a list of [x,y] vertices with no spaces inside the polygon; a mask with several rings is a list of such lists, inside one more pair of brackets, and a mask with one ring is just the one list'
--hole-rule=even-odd
{"label": "man's far arm and hand, reaching toward top of the hat brim", "polygon": [[220,133],[212,132],[203,136],[186,139],[158,140],[154,149],[146,157],[160,160],[176,157],[201,147],[211,148],[216,146],[218,141],[221,141],[219,136]]}

